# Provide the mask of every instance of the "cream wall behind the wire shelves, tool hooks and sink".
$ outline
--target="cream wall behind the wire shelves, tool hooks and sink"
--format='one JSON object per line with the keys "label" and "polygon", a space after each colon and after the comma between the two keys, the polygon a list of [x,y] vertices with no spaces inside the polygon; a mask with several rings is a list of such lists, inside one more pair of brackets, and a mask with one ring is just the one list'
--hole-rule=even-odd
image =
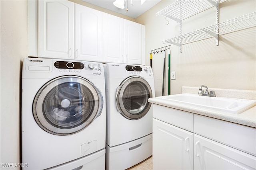
{"label": "cream wall behind the wire shelves, tool hooks and sink", "polygon": [[[166,25],[168,21],[164,16],[156,16],[156,12],[173,2],[162,0],[136,19],[145,25],[146,65],[150,65],[151,50],[170,45],[162,44],[162,41],[180,33],[179,23],[167,18],[169,24]],[[228,0],[220,4],[220,22],[255,11],[255,0]],[[215,23],[216,8],[211,8],[184,20],[182,31],[188,33]],[[163,74],[162,60],[153,55],[153,73],[158,79]],[[155,66],[154,63],[160,64]],[[176,71],[176,80],[171,80],[171,94],[181,93],[182,86],[199,88],[200,85],[256,90],[256,28],[222,35],[218,46],[214,38],[183,45],[182,53],[179,47],[171,45],[170,70]],[[159,83],[162,85],[161,81],[156,82],[158,86]],[[162,86],[160,88],[162,93]]]}

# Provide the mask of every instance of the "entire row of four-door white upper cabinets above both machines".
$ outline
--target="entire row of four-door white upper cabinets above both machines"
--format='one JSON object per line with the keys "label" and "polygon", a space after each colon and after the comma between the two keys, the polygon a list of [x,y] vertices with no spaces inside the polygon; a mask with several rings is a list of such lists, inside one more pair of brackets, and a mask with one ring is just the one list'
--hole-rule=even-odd
{"label": "entire row of four-door white upper cabinets above both machines", "polygon": [[68,0],[28,1],[28,56],[145,64],[145,26]]}

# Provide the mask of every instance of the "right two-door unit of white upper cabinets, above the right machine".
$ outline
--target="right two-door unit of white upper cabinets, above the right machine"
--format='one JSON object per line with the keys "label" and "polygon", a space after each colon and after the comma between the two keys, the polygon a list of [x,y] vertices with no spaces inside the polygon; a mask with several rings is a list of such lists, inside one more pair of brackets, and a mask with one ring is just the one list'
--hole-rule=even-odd
{"label": "right two-door unit of white upper cabinets, above the right machine", "polygon": [[144,25],[102,13],[102,61],[144,64]]}

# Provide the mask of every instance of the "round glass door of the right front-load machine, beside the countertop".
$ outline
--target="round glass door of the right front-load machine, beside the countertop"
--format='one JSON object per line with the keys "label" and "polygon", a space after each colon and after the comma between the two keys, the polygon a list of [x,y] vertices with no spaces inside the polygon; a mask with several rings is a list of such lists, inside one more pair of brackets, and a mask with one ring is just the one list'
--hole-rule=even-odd
{"label": "round glass door of the right front-load machine, beside the countertop", "polygon": [[132,76],[122,82],[116,91],[116,106],[118,112],[131,120],[140,119],[150,109],[152,90],[148,82],[139,77]]}

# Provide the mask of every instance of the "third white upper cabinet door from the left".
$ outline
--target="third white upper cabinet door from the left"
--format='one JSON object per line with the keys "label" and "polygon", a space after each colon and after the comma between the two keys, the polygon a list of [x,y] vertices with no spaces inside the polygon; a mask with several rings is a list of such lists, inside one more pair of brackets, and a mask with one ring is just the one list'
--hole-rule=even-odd
{"label": "third white upper cabinet door from the left", "polygon": [[124,63],[124,19],[102,13],[102,61]]}

